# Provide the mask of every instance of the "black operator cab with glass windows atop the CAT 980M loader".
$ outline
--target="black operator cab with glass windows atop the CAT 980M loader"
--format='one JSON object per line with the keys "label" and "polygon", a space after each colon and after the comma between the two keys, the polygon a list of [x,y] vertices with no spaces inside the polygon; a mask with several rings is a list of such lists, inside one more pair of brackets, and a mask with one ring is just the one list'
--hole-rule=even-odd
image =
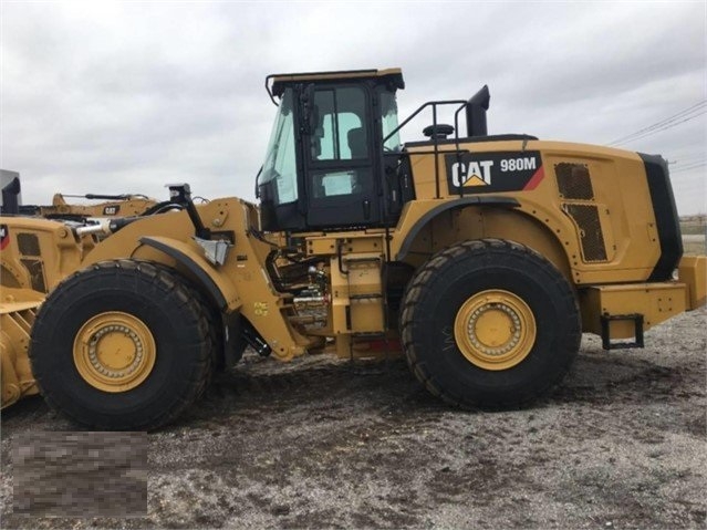
{"label": "black operator cab with glass windows atop the CAT 980M loader", "polygon": [[399,69],[277,74],[266,87],[278,105],[257,193],[262,228],[306,231],[381,227],[399,210],[384,186],[399,136]]}

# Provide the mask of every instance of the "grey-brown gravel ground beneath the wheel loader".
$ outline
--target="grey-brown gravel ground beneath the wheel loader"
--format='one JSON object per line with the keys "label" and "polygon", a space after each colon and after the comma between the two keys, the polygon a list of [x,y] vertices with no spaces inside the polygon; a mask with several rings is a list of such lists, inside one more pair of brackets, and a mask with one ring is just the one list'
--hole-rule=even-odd
{"label": "grey-brown gravel ground beneath the wheel loader", "polygon": [[402,361],[248,357],[148,436],[148,517],[12,513],[13,440],[75,428],[2,415],[2,528],[706,528],[707,311],[604,353],[585,335],[534,407],[449,409]]}

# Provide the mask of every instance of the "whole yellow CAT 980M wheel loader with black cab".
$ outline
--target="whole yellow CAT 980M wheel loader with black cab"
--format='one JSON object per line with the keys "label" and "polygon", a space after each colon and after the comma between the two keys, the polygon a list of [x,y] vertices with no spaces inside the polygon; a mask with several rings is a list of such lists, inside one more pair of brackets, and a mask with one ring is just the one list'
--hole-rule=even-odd
{"label": "whole yellow CAT 980M wheel loader with black cab", "polygon": [[171,185],[181,211],[114,224],[42,303],[32,370],[76,422],[164,425],[247,346],[288,361],[398,344],[446,402],[516,407],[564,376],[582,332],[642,346],[705,303],[658,156],[488,135],[486,87],[423,105],[425,138],[401,145],[397,69],[266,87],[259,206],[195,206]]}

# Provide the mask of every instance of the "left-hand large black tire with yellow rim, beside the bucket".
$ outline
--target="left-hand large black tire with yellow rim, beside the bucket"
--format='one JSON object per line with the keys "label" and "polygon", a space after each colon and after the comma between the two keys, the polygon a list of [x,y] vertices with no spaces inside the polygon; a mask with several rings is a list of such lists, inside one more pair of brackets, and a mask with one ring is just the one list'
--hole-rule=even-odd
{"label": "left-hand large black tire with yellow rim, beside the bucket", "polygon": [[30,360],[52,408],[93,428],[152,430],[199,397],[211,347],[207,310],[186,281],[146,261],[116,260],[50,293]]}

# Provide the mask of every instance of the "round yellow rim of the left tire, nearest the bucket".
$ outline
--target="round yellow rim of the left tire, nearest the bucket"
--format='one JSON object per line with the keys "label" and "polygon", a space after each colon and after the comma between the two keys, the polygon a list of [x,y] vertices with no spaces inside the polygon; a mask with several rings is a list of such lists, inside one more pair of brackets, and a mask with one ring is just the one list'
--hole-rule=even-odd
{"label": "round yellow rim of the left tire, nearest the bucket", "polygon": [[149,328],[119,311],[93,316],[74,340],[76,370],[86,383],[104,392],[135,388],[149,375],[156,357]]}

